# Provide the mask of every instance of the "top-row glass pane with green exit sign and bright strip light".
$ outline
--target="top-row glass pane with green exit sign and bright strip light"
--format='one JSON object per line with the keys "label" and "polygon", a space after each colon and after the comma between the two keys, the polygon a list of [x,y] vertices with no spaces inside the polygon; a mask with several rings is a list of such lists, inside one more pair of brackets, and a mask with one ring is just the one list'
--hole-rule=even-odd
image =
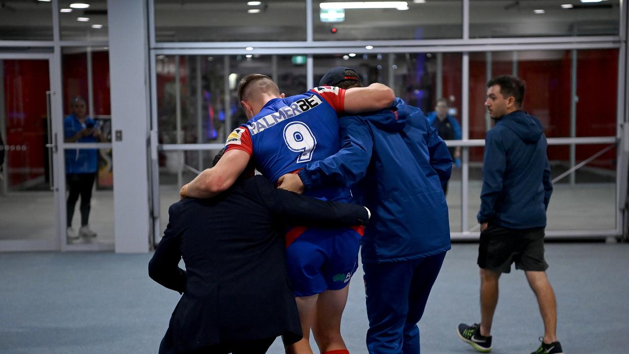
{"label": "top-row glass pane with green exit sign and bright strip light", "polygon": [[462,37],[462,1],[406,1],[398,8],[338,8],[313,1],[315,40],[421,40]]}

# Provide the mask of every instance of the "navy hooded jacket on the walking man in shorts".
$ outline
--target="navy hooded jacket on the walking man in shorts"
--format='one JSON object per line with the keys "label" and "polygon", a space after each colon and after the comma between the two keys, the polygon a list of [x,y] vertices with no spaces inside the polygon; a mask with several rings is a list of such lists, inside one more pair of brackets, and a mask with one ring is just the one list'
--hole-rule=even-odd
{"label": "navy hooded jacket on the walking man in shorts", "polygon": [[500,118],[485,137],[479,222],[511,229],[546,226],[552,193],[542,124],[524,111]]}

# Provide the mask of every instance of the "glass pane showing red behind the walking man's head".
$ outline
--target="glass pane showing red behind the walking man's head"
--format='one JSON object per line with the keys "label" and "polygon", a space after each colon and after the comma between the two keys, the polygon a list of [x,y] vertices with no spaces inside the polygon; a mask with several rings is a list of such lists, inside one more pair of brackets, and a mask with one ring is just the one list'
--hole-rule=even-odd
{"label": "glass pane showing red behind the walking man's head", "polygon": [[[571,72],[576,53],[576,134],[571,135]],[[487,64],[489,62],[489,64]],[[487,69],[491,76],[487,76]],[[484,139],[493,124],[486,113],[487,81],[523,79],[523,109],[537,117],[547,137],[613,136],[618,101],[618,50],[545,50],[470,54],[470,139]]]}

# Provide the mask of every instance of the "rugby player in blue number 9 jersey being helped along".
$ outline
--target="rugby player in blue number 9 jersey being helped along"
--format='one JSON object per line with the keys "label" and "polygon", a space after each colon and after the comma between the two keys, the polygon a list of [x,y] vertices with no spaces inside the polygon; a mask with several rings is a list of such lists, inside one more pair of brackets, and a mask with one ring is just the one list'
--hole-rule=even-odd
{"label": "rugby player in blue number 9 jersey being helped along", "polygon": [[[355,72],[347,72],[348,76]],[[238,98],[249,119],[226,141],[219,163],[182,187],[182,197],[208,198],[229,188],[251,158],[276,183],[282,174],[338,152],[338,114],[387,108],[393,91],[383,84],[345,90],[331,86],[286,97],[270,77],[251,74],[238,85]],[[348,188],[332,186],[306,193],[339,202],[352,200]],[[322,230],[301,226],[286,233],[287,272],[297,297],[304,339],[289,353],[312,353],[310,329],[321,353],[344,354],[340,323],[348,282],[357,269],[362,229]]]}

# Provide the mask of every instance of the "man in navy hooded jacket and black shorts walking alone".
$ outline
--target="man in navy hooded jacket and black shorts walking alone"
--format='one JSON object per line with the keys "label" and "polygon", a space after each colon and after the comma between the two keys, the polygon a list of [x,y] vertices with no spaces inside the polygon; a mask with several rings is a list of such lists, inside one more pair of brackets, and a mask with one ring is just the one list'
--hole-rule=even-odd
{"label": "man in navy hooded jacket and black shorts walking alone", "polygon": [[485,106],[496,126],[485,137],[482,166],[481,323],[459,324],[461,340],[484,353],[491,350],[491,324],[498,304],[498,279],[511,264],[524,270],[537,296],[544,323],[542,345],[533,354],[560,354],[557,305],[544,260],[546,209],[552,193],[548,143],[542,124],[521,110],[525,86],[513,76],[487,83]]}

